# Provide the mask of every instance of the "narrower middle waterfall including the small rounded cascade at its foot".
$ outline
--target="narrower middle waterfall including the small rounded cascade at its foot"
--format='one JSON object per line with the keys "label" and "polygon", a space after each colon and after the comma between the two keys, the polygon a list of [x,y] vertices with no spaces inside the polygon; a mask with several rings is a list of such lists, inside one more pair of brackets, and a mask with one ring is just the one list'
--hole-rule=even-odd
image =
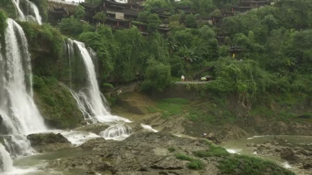
{"label": "narrower middle waterfall including the small rounded cascade at its foot", "polygon": [[[85,85],[79,88],[75,87],[75,91],[70,91],[85,119],[91,122],[110,124],[111,126],[100,134],[105,139],[123,140],[127,138],[131,134],[131,128],[125,126],[124,122],[131,121],[110,114],[107,101],[100,92],[96,79],[96,67],[93,62],[95,52],[91,49],[88,50],[84,43],[71,39],[68,39],[67,44],[64,46],[67,48],[66,54],[68,54],[67,64],[69,66],[70,88],[73,88],[73,84],[75,84],[71,82],[73,79],[82,79],[79,81],[80,85],[85,83]],[[83,64],[83,67],[75,68],[79,63]],[[84,69],[84,71],[81,69]],[[84,72],[85,74],[77,77],[75,76],[76,71]]]}

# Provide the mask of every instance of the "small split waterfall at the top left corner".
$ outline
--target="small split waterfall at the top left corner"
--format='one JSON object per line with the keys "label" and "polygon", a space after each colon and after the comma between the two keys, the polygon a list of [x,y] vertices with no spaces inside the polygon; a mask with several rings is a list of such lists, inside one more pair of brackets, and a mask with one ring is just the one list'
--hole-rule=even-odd
{"label": "small split waterfall at the top left corner", "polygon": [[[26,20],[35,20],[39,25],[42,25],[42,17],[39,13],[37,6],[30,2],[29,0],[24,0],[27,4],[27,8],[30,8],[31,14],[25,14],[21,8],[19,7],[19,0],[12,0],[13,4],[16,7],[16,11],[18,13],[18,20],[26,21]],[[27,17],[25,17],[27,16]]]}

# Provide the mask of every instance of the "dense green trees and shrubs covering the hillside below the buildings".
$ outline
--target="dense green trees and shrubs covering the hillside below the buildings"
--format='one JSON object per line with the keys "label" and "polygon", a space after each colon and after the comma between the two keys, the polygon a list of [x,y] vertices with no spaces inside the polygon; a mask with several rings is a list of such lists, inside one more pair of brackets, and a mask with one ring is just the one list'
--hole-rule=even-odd
{"label": "dense green trees and shrubs covering the hillside below the buildings", "polygon": [[[65,34],[74,31],[77,38],[96,50],[103,65],[102,82],[127,82],[135,79],[135,75],[145,74],[144,89],[163,91],[168,80],[152,76],[151,70],[157,72],[156,75],[165,75],[166,69],[173,77],[183,74],[190,78],[210,67],[212,71],[203,72],[202,76],[210,74],[216,80],[207,85],[207,91],[237,94],[246,105],[263,93],[310,94],[311,75],[306,74],[312,71],[310,1],[276,2],[272,6],[226,17],[220,26],[199,23],[196,16],[220,15],[220,10],[229,10],[228,1],[181,3],[199,9],[199,14],[174,13],[176,4],[170,1],[146,1],[146,8],[136,23],[148,25],[148,38],[141,36],[135,27],[129,31],[115,31],[105,26],[95,30],[83,27],[86,24],[79,23],[79,15],[63,19],[59,27]],[[153,13],[157,8],[165,8],[166,13],[173,14],[168,18],[171,31],[165,35],[157,31],[162,23]],[[293,15],[285,15],[290,12]],[[75,25],[81,26],[80,29],[74,27],[79,31],[66,29]],[[229,35],[218,45],[216,36],[220,32]],[[229,57],[228,51],[233,45],[245,50],[240,55],[244,61]],[[149,58],[161,64],[148,64]],[[162,64],[163,68],[157,68]],[[152,65],[155,68],[151,68]]]}

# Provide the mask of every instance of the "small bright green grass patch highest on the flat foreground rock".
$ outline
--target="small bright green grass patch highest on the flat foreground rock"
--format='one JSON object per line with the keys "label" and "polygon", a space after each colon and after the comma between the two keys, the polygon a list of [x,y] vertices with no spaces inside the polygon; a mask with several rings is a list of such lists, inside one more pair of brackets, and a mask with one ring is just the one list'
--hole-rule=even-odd
{"label": "small bright green grass patch highest on the flat foreground rock", "polygon": [[213,157],[213,156],[228,156],[229,153],[225,148],[209,143],[209,150],[199,150],[194,153],[195,156],[200,158]]}

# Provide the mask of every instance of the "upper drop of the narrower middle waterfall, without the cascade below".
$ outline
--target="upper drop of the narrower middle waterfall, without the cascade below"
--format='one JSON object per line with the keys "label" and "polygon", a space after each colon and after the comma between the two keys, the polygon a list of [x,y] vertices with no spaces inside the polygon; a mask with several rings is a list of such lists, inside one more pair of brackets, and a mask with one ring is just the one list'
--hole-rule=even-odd
{"label": "upper drop of the narrower middle waterfall, without the cascade below", "polygon": [[[90,119],[92,122],[112,122],[112,121],[126,121],[127,119],[122,117],[113,116],[109,112],[108,105],[105,104],[106,100],[100,92],[99,85],[96,79],[95,65],[93,63],[94,51],[88,50],[83,42],[68,39],[67,43],[68,59],[70,67],[70,79],[72,78],[72,71],[85,72],[86,85],[76,91],[71,91],[73,97],[77,101],[77,105],[84,114],[86,119]],[[84,71],[73,70],[71,62],[75,59],[81,59],[84,64]],[[79,60],[75,60],[79,62]],[[71,81],[71,80],[70,80]],[[70,83],[71,84],[71,83]]]}

